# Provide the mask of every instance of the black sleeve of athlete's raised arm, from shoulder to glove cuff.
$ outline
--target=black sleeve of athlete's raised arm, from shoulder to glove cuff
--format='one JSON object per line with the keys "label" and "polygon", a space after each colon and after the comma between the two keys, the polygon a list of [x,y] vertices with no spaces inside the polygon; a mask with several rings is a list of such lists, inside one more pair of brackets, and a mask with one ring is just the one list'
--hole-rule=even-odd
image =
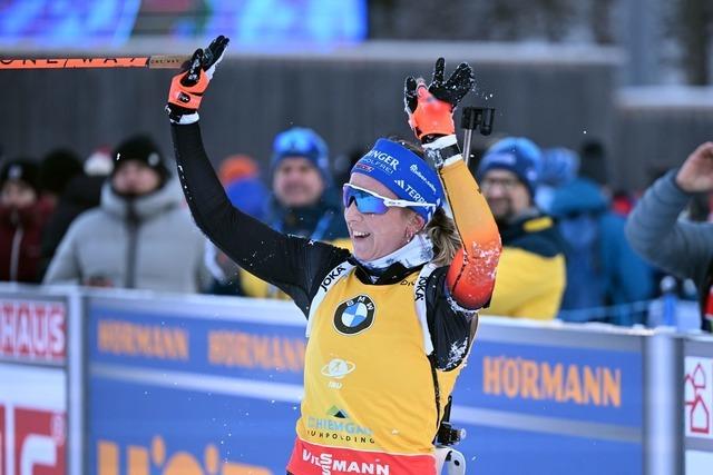
{"label": "black sleeve of athlete's raised arm, from shoulder to glove cuff", "polygon": [[279,287],[309,315],[319,284],[349,251],[283,235],[236,209],[203,148],[198,123],[174,123],[172,136],[178,178],[196,225],[243,269]]}

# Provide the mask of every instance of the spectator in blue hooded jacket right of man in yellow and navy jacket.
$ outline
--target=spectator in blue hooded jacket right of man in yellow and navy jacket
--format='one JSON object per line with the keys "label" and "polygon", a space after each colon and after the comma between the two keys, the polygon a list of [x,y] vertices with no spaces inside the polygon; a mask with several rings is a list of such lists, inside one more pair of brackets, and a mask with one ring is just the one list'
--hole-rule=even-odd
{"label": "spectator in blue hooded jacket right of man in yellow and navy jacket", "polygon": [[[558,188],[550,205],[567,243],[567,288],[559,317],[642,324],[625,304],[653,297],[653,269],[626,240],[626,219],[615,214],[600,187],[577,177]],[[614,307],[604,314],[603,307]]]}

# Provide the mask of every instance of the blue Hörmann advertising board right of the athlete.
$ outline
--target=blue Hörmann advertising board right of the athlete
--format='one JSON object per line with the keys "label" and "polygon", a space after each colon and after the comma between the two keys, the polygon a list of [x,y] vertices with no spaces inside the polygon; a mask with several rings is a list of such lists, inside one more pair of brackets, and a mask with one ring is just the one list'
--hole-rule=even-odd
{"label": "blue H\u00f6rmann advertising board right of the athlete", "polygon": [[485,321],[453,393],[458,449],[478,474],[641,474],[642,374],[641,336]]}

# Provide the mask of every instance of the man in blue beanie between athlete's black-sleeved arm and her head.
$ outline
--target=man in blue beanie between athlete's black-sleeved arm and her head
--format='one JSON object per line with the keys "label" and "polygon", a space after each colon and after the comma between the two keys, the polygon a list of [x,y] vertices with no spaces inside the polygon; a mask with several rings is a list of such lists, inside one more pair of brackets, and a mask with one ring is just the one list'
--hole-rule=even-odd
{"label": "man in blue beanie between athlete's black-sleeved arm and her head", "polygon": [[[272,198],[265,222],[280,232],[350,247],[342,208],[332,188],[329,149],[314,130],[292,127],[277,133],[270,160]],[[274,286],[241,273],[250,297],[286,298]]]}

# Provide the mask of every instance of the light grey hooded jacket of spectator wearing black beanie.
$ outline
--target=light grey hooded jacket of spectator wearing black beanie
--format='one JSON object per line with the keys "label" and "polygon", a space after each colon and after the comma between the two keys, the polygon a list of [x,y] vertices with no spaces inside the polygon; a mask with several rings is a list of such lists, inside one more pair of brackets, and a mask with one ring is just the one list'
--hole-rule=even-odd
{"label": "light grey hooded jacket of spectator wearing black beanie", "polygon": [[177,180],[134,199],[117,195],[107,181],[100,207],[69,227],[45,284],[195,293],[209,280],[204,251]]}

